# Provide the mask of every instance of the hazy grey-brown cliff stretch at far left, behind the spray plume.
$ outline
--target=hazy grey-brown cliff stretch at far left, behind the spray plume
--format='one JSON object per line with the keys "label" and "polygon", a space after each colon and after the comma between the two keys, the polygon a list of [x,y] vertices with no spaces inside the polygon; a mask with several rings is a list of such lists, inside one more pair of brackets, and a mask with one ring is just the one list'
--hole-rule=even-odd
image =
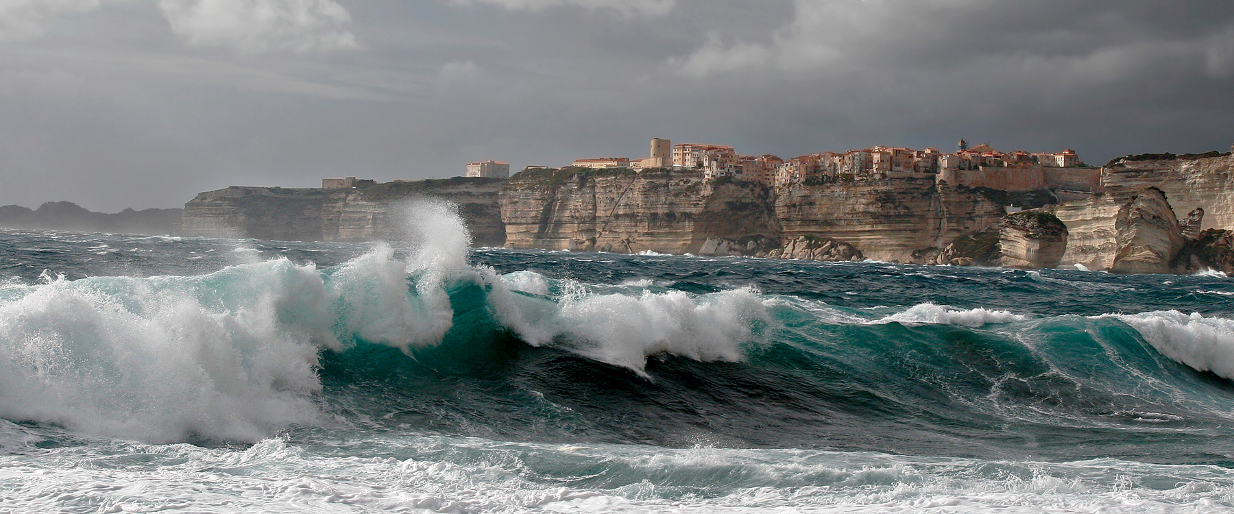
{"label": "hazy grey-brown cliff stretch at far left, behind the spray plume", "polygon": [[459,206],[476,245],[505,244],[497,207],[503,180],[454,177],[387,182],[363,189],[227,187],[197,195],[184,206],[188,237],[273,240],[399,240],[413,198],[444,198]]}

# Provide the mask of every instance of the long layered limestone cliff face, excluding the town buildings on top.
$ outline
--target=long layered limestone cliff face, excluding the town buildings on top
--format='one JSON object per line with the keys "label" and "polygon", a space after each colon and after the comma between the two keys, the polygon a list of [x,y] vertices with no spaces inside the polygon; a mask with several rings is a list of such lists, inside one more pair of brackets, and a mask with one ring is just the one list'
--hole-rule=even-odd
{"label": "long layered limestone cliff face, excluding the town buildings on top", "polygon": [[[1224,263],[1220,244],[1228,238],[1209,238],[1212,248],[1196,242],[1201,233],[1211,234],[1204,229],[1234,228],[1230,168],[1228,155],[1132,159],[1102,170],[1106,192],[1098,195],[1008,194],[935,185],[930,179],[797,184],[772,191],[726,179],[706,181],[695,170],[578,168],[527,170],[508,181],[230,187],[189,202],[183,233],[399,239],[406,218],[400,206],[428,196],[458,203],[479,245],[1016,267],[1079,264],[1146,272],[1161,270],[1160,263],[1149,264],[1148,254],[1177,270]],[[1165,191],[1160,202],[1154,194],[1141,194],[1150,186]],[[1016,224],[1014,216],[1004,223],[1008,205],[1041,207],[1062,229],[1044,237]],[[1065,234],[1065,245],[1051,239],[1058,234]]]}

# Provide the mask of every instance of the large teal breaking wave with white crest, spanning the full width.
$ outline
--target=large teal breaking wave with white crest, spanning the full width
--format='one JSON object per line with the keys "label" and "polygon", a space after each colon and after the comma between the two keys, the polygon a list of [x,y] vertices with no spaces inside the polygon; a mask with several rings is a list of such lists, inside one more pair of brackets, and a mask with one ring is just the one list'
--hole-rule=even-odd
{"label": "large teal breaking wave with white crest, spanning the full width", "polygon": [[[1188,370],[1234,378],[1229,319],[855,308],[742,285],[499,274],[468,261],[453,207],[410,208],[412,244],[325,269],[273,259],[4,282],[0,417],[152,443],[362,423],[670,446],[969,440],[981,454],[1004,451],[1016,426],[1227,415]],[[489,403],[459,399],[475,390]],[[956,428],[971,425],[985,435]]]}

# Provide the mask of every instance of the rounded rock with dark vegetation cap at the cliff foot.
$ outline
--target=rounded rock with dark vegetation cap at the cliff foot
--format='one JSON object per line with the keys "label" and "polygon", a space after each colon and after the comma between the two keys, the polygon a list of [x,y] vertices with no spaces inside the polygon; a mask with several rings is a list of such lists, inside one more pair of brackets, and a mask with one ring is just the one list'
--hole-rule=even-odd
{"label": "rounded rock with dark vegetation cap at the cliff foot", "polygon": [[1056,267],[1067,245],[1067,227],[1045,211],[1007,214],[998,233],[1004,267]]}

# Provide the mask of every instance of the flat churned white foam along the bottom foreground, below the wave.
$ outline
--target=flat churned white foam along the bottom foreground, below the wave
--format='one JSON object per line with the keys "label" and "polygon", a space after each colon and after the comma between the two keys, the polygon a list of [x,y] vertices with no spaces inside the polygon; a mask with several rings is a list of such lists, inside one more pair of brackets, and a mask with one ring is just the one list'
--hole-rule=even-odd
{"label": "flat churned white foam along the bottom foreground, below the wave", "polygon": [[[7,484],[5,505],[17,512],[83,513],[1153,514],[1228,512],[1234,494],[1234,481],[1215,466],[1116,460],[1006,462],[428,436],[369,444],[383,456],[315,451],[278,439],[244,450],[79,446],[38,459],[2,455],[0,481]],[[443,459],[434,451],[441,447],[463,451]],[[452,454],[478,457],[452,461]],[[569,471],[580,462],[603,463],[613,484]]]}

